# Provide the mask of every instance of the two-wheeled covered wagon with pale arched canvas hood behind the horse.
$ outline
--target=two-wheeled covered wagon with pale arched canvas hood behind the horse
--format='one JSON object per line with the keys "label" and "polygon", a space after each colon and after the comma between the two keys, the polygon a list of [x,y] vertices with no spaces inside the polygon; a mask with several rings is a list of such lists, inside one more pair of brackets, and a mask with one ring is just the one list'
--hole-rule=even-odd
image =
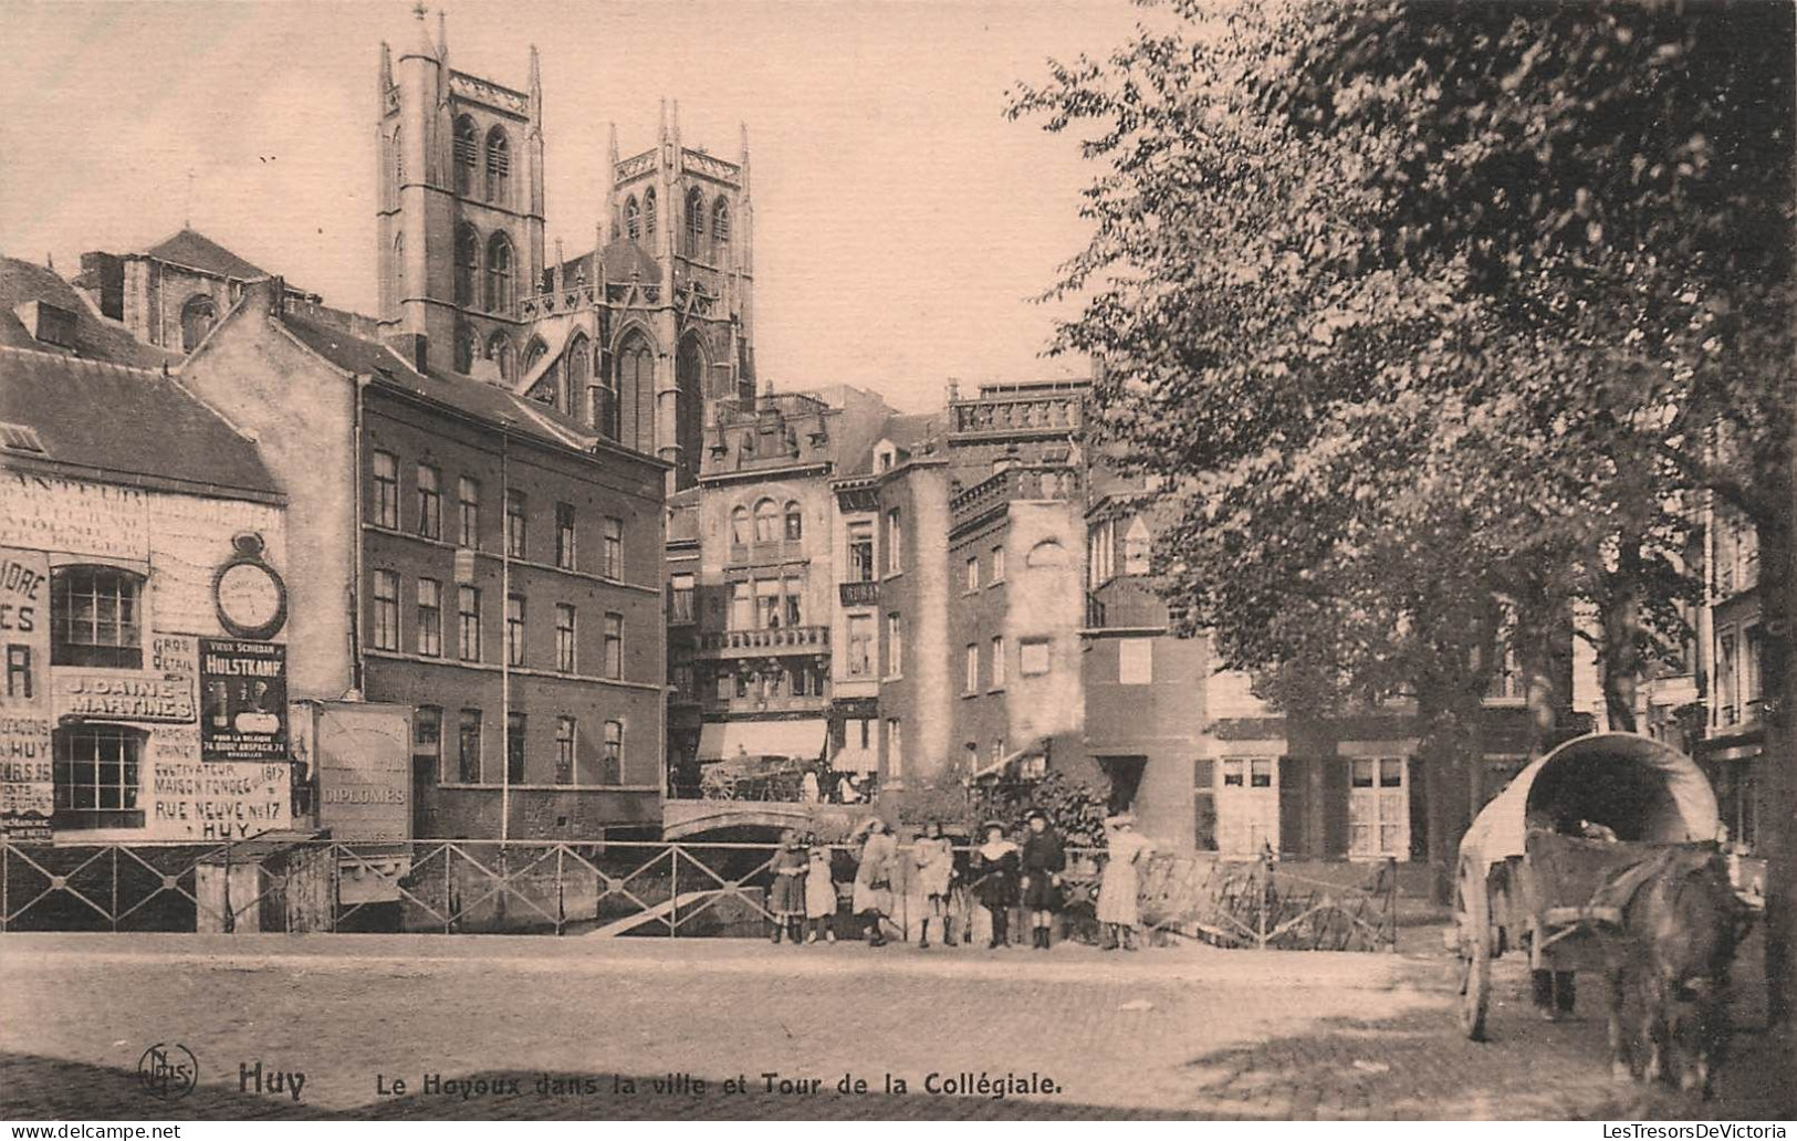
{"label": "two-wheeled covered wagon with pale arched canvas hood behind the horse", "polygon": [[1486,1033],[1492,960],[1506,951],[1527,952],[1536,1004],[1569,1012],[1574,974],[1603,969],[1630,868],[1666,846],[1714,850],[1720,823],[1696,762],[1648,737],[1578,737],[1522,769],[1459,846],[1450,943],[1466,1035]]}

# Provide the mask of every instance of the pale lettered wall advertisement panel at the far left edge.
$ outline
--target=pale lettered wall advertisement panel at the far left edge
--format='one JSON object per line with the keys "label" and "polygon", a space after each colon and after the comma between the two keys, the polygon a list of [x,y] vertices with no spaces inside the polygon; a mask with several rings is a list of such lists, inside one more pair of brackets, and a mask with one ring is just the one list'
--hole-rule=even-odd
{"label": "pale lettered wall advertisement panel at the far left edge", "polygon": [[49,841],[56,785],[50,769],[50,564],[41,552],[0,548],[0,837]]}

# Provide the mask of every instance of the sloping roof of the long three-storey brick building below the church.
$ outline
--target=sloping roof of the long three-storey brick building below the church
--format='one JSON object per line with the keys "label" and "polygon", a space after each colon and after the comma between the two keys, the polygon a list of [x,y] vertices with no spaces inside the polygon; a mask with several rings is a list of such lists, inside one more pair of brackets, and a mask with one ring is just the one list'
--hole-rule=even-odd
{"label": "sloping roof of the long three-storey brick building below the church", "polygon": [[595,444],[591,429],[579,420],[509,388],[451,372],[419,372],[381,341],[295,313],[284,313],[280,323],[323,359],[343,372],[372,377],[377,386],[420,395],[564,447],[588,449]]}

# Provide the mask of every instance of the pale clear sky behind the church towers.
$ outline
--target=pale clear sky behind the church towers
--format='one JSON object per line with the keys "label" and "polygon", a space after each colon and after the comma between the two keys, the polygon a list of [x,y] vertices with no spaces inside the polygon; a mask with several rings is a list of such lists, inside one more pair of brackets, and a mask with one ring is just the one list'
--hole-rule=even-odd
{"label": "pale clear sky behind the church towers", "polygon": [[[543,57],[548,252],[591,246],[607,122],[633,155],[663,97],[686,146],[748,124],[764,379],[904,410],[949,377],[1082,376],[1033,304],[1089,223],[1078,140],[1003,115],[1048,57],[1103,54],[1127,0],[444,5],[449,63],[523,88]],[[429,23],[435,29],[435,5]],[[379,45],[410,5],[0,0],[0,252],[142,250],[189,223],[252,262],[376,305]]]}

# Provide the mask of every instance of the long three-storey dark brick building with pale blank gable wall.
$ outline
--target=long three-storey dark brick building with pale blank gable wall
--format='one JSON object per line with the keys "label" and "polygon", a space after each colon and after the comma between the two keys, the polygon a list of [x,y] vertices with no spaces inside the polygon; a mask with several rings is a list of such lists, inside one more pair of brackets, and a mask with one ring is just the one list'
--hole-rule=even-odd
{"label": "long three-storey dark brick building with pale blank gable wall", "polygon": [[417,836],[656,828],[665,465],[289,302],[250,286],[181,379],[293,503],[291,697],[413,710]]}

